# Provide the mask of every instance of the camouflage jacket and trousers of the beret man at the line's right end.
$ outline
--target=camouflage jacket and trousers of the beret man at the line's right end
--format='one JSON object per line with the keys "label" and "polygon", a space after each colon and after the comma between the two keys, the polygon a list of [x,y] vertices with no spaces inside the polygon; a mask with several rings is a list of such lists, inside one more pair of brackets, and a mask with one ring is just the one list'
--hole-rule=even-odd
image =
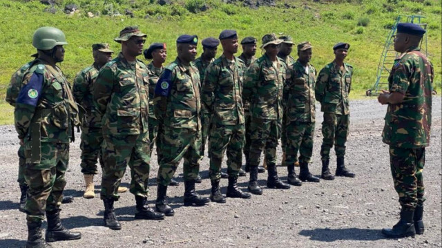
{"label": "camouflage jacket and trousers of the beret man at the line's right end", "polygon": [[320,70],[316,80],[315,96],[324,113],[323,144],[320,155],[323,161],[329,160],[330,149],[335,146],[337,158],[344,158],[345,142],[350,124],[348,95],[352,86],[353,67],[347,63],[340,70],[333,61]]}

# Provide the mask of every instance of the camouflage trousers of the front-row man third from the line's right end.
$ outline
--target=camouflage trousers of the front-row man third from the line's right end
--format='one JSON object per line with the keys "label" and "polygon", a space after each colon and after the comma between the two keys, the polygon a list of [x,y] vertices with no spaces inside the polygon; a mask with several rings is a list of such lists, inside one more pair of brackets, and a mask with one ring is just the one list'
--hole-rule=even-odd
{"label": "camouflage trousers of the front-row man third from the line's right end", "polygon": [[281,120],[265,120],[252,117],[250,129],[250,166],[258,166],[260,164],[262,150],[265,152],[267,166],[275,166],[276,146],[278,146],[281,133]]}

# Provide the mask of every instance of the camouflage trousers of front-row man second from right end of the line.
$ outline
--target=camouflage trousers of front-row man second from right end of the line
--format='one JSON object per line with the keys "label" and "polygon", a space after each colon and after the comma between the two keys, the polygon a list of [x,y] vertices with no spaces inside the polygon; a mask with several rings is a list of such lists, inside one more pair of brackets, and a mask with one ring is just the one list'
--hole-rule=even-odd
{"label": "camouflage trousers of front-row man second from right end of the line", "polygon": [[287,164],[298,162],[309,163],[313,153],[313,137],[315,131],[315,122],[296,122],[287,123],[287,145],[285,146],[285,155]]}

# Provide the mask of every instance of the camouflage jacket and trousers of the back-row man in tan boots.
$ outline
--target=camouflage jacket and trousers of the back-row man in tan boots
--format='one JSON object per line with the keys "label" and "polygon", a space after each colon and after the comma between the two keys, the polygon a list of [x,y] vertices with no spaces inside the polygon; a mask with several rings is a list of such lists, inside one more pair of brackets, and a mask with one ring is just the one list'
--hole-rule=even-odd
{"label": "camouflage jacket and trousers of the back-row man in tan boots", "polygon": [[101,145],[103,142],[102,120],[97,114],[93,104],[93,90],[97,79],[99,66],[92,64],[81,70],[74,80],[73,95],[75,101],[85,110],[81,117],[81,173],[85,175],[97,174],[97,158],[103,164],[101,157]]}

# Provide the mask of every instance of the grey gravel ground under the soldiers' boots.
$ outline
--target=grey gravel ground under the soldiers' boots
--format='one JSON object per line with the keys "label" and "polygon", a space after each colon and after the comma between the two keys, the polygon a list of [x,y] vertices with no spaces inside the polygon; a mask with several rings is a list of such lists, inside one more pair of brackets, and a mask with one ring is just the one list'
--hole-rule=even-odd
{"label": "grey gravel ground under the soldiers' boots", "polygon": [[[376,99],[351,102],[350,135],[346,162],[356,178],[336,178],[320,183],[305,182],[289,190],[267,189],[267,173],[260,173],[262,195],[250,200],[227,198],[226,204],[182,207],[182,169],[178,187],[169,187],[169,201],[175,216],[161,221],[134,220],[135,200],[123,193],[115,203],[122,230],[102,226],[103,204],[99,198],[82,198],[83,177],[79,167],[79,142],[71,145],[70,170],[66,173],[66,195],[75,196],[64,204],[64,225],[81,231],[81,240],[55,242],[54,247],[442,247],[441,245],[441,97],[433,97],[431,146],[427,148],[424,171],[426,197],[425,234],[416,238],[385,239],[383,227],[398,220],[398,195],[390,173],[388,149],[381,141],[385,106]],[[319,109],[319,108],[317,108]],[[320,123],[317,113],[314,158],[311,172],[320,175]],[[79,136],[79,133],[77,133]],[[79,139],[78,139],[79,140]],[[17,135],[13,126],[0,126],[0,247],[23,247],[27,238],[26,216],[19,212],[17,180]],[[278,150],[278,158],[281,158]],[[157,187],[157,158],[154,153],[148,198],[154,204]],[[332,171],[336,158],[330,162]],[[225,164],[224,164],[225,166]],[[202,160],[207,178],[209,159]],[[296,169],[298,171],[298,169]],[[286,180],[287,168],[278,168]],[[99,178],[99,177],[97,177]],[[130,175],[124,175],[128,186]],[[95,180],[99,196],[99,180]],[[238,180],[247,190],[247,178]],[[222,180],[225,193],[227,180]],[[197,184],[200,194],[209,196],[210,180]],[[46,224],[44,224],[46,226]]]}

